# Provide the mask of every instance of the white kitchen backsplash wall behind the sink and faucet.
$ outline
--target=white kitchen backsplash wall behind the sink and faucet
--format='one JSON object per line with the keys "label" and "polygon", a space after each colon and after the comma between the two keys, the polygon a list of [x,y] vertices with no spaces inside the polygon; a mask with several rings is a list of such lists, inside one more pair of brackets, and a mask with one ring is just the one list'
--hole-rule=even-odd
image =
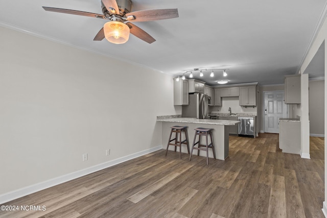
{"label": "white kitchen backsplash wall behind the sink and faucet", "polygon": [[256,107],[241,107],[239,97],[226,97],[222,98],[222,106],[210,106],[209,113],[228,113],[228,108],[231,108],[232,113],[256,113]]}

